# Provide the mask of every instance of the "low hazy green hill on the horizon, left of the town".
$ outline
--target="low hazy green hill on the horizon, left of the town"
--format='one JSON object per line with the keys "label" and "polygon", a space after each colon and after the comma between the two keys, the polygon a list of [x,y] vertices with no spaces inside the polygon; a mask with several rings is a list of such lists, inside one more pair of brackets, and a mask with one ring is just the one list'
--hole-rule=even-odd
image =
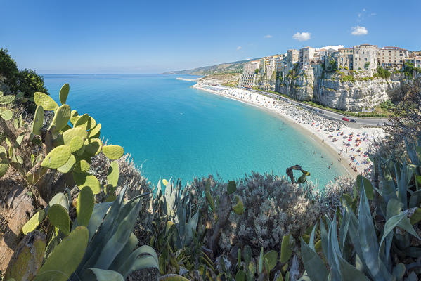
{"label": "low hazy green hill on the horizon, left of the town", "polygon": [[[253,58],[252,60],[258,60]],[[164,74],[192,74],[192,75],[211,75],[211,74],[223,74],[223,73],[241,73],[242,67],[245,63],[251,60],[240,60],[233,63],[221,63],[219,65],[210,65],[204,67],[193,68],[193,70],[179,70],[164,72]]]}

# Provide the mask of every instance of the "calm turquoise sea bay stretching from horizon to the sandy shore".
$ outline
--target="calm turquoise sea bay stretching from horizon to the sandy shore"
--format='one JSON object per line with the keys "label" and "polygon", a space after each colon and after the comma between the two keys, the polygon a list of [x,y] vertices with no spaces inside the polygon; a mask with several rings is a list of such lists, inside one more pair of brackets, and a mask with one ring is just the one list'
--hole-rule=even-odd
{"label": "calm turquoise sea bay stretching from horizon to the sandy shore", "polygon": [[228,180],[252,170],[285,175],[288,166],[300,164],[311,181],[324,186],[346,173],[335,155],[297,125],[176,77],[46,74],[44,81],[55,100],[69,83],[67,103],[100,122],[101,135],[130,152],[152,183],[160,177],[185,183],[208,174]]}

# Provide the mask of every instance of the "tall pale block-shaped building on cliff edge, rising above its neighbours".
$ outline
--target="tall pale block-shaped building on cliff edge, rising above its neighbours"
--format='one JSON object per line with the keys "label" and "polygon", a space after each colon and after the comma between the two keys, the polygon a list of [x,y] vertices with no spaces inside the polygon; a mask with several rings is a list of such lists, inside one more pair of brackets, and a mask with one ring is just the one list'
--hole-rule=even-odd
{"label": "tall pale block-shaped building on cliff edge, rising above its neighbours", "polygon": [[370,76],[377,72],[378,48],[377,45],[361,44],[352,48],[353,69],[367,71]]}

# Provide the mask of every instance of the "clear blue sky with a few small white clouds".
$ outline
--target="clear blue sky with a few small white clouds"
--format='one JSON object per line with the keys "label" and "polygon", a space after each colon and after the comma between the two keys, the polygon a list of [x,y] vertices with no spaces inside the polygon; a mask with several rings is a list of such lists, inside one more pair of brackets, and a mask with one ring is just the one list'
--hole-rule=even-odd
{"label": "clear blue sky with a few small white clouds", "polygon": [[0,6],[0,48],[20,68],[43,74],[160,73],[303,46],[421,49],[420,0],[0,0]]}

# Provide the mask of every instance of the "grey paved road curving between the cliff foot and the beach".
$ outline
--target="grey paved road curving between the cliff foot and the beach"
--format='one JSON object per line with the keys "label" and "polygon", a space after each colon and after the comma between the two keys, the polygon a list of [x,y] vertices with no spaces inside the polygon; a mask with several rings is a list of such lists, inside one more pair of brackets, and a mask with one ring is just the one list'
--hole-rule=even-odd
{"label": "grey paved road curving between the cliff foot and the beach", "polygon": [[[260,93],[265,96],[270,96],[271,98],[276,98],[278,100],[283,100],[287,103],[291,103],[292,105],[297,105],[299,107],[304,108],[305,110],[309,110],[310,112],[316,113],[317,115],[323,116],[328,119],[337,120],[343,122],[348,126],[384,126],[385,122],[388,122],[387,118],[377,118],[377,117],[349,117],[346,115],[342,115],[337,112],[332,112],[330,110],[323,110],[319,107],[313,107],[311,105],[307,105],[306,103],[300,103],[296,100],[290,100],[289,98],[284,98],[283,96],[276,95],[275,93],[268,93],[265,91],[257,91],[257,90],[248,90],[247,91],[254,91],[255,93]],[[355,120],[355,122],[347,122],[343,121],[342,118],[346,118],[349,120]]]}

